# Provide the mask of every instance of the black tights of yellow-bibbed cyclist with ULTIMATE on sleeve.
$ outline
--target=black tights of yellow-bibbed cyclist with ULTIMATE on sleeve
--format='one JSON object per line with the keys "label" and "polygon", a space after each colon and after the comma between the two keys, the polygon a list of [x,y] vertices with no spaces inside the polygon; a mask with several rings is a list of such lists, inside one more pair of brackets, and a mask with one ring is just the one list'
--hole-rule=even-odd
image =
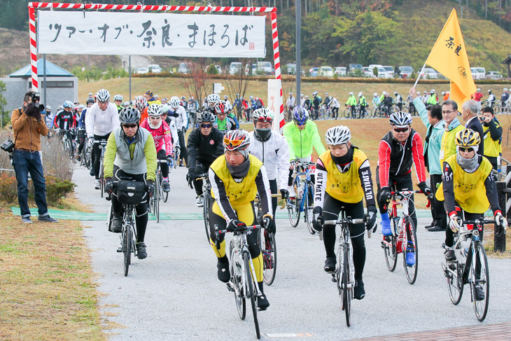
{"label": "black tights of yellow-bibbed cyclist with ULTIMATE on sleeve", "polygon": [[[360,219],[364,217],[364,205],[362,200],[356,204],[349,204],[342,202],[328,193],[325,193],[325,203],[323,204],[323,219],[334,220],[339,217],[339,212],[342,207],[346,212],[346,217],[353,219]],[[365,265],[365,242],[364,224],[355,224],[349,227],[349,234],[351,236],[351,245],[353,246],[353,266],[355,267],[355,279],[362,279]],[[337,239],[335,236],[335,225],[323,225],[323,242],[325,244],[325,251],[327,257],[335,257],[335,243]]]}

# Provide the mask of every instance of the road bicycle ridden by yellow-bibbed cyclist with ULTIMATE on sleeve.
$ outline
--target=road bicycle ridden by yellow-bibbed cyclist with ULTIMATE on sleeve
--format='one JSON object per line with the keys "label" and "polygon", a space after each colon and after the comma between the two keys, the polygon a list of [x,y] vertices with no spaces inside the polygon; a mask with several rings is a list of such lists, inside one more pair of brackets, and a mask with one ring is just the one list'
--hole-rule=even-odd
{"label": "road bicycle ridden by yellow-bibbed cyclist with ULTIMATE on sleeve", "polygon": [[346,217],[346,211],[344,211],[343,207],[340,219],[328,220],[324,223],[324,225],[339,225],[341,227],[337,249],[337,265],[335,271],[332,272],[332,281],[337,283],[337,291],[339,291],[341,298],[341,309],[346,315],[346,326],[351,326],[351,300],[353,300],[353,291],[356,285],[355,267],[353,267],[353,247],[351,246],[349,226],[364,222],[364,219]]}

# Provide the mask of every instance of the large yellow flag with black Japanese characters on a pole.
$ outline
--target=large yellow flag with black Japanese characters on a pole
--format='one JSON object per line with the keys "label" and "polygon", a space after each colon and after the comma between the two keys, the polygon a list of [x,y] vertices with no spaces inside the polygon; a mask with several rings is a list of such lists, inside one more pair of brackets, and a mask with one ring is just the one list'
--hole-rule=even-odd
{"label": "large yellow flag with black Japanese characters on a pole", "polygon": [[472,79],[456,9],[453,8],[445,22],[426,64],[451,80],[450,97],[456,101],[458,108],[461,108],[465,99],[470,99],[470,95],[477,90]]}

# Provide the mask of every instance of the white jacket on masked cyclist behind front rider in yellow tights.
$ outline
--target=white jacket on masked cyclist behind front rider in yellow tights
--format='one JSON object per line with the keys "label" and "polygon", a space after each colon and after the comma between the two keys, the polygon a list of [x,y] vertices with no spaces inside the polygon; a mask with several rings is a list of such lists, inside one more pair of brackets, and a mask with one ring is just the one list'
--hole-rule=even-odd
{"label": "white jacket on masked cyclist behind front rider in yellow tights", "polygon": [[248,152],[265,165],[268,179],[275,180],[279,174],[277,179],[279,189],[288,188],[289,146],[286,139],[275,132],[272,132],[272,136],[265,142],[255,139],[253,132],[249,132],[248,135],[250,136]]}

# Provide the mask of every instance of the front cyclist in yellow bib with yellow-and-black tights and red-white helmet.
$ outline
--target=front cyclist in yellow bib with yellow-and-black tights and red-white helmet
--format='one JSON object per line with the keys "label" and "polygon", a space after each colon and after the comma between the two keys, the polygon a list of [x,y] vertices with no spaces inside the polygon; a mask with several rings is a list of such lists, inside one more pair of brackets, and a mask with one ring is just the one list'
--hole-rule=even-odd
{"label": "front cyclist in yellow bib with yellow-and-black tights and red-white helmet", "polygon": [[[255,156],[248,154],[250,137],[246,130],[230,130],[223,137],[225,155],[218,157],[209,167],[211,195],[215,202],[209,211],[211,247],[218,257],[218,279],[227,283],[230,279],[229,260],[225,254],[224,235],[219,236],[220,249],[216,248],[215,227],[232,232],[243,225],[256,222],[252,201],[259,193],[263,217],[267,218],[265,228],[275,232],[272,216],[272,193],[265,166]],[[247,236],[248,251],[253,261],[259,290],[258,307],[264,310],[269,302],[262,288],[262,254],[258,233]]]}

